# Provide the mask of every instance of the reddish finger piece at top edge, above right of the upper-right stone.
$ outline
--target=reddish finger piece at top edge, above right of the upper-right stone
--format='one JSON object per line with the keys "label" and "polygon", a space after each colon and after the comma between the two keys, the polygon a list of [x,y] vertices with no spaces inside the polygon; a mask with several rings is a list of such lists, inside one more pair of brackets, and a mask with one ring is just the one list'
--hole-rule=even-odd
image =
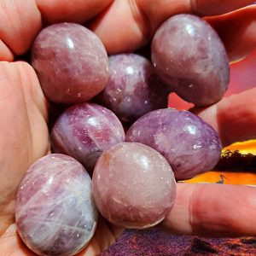
{"label": "reddish finger piece at top edge, above right of the upper-right stone", "polygon": [[191,0],[192,10],[201,16],[223,15],[252,3],[252,0]]}

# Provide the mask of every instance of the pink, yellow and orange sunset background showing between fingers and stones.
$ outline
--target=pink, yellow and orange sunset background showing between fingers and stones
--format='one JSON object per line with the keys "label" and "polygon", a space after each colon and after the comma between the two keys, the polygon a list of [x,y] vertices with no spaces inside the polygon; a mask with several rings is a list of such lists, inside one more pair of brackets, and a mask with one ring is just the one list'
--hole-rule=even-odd
{"label": "pink, yellow and orange sunset background showing between fingers and stones", "polygon": [[[256,49],[250,55],[247,55],[242,61],[230,64],[230,87],[225,97],[247,90],[256,85]],[[188,109],[192,104],[184,102],[175,94],[169,98],[169,106],[177,109]],[[255,99],[256,108],[256,99]],[[255,127],[256,129],[256,127]],[[231,153],[239,150],[240,154],[256,155],[256,140],[243,143],[234,143],[223,149]],[[206,172],[190,180],[184,181],[189,183],[227,183],[227,184],[250,184],[256,185],[256,166],[253,172],[232,172],[231,170],[221,170],[216,172]]]}

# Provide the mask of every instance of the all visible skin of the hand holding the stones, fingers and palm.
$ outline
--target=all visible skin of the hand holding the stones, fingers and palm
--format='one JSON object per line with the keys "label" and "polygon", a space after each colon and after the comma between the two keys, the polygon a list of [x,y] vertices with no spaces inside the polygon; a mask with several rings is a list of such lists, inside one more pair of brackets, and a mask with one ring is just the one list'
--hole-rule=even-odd
{"label": "all visible skin of the hand holding the stones, fingers and palm", "polygon": [[[256,6],[239,9],[253,1],[158,0],[154,1],[157,9],[148,3],[148,0],[1,1],[0,255],[34,255],[16,234],[15,193],[28,166],[49,151],[49,103],[29,64],[5,61],[14,61],[15,56],[30,49],[43,22],[68,20],[84,24],[90,20],[88,26],[102,39],[108,53],[113,54],[140,48],[152,38],[160,23],[172,15],[230,12],[207,18],[223,38],[230,61],[247,55],[256,46]],[[255,97],[253,88],[193,111],[207,120],[224,145],[228,145],[256,137]],[[188,235],[256,236],[255,199],[253,187],[178,183],[175,206],[160,228]],[[96,236],[79,255],[100,253],[121,231],[101,219]]]}

